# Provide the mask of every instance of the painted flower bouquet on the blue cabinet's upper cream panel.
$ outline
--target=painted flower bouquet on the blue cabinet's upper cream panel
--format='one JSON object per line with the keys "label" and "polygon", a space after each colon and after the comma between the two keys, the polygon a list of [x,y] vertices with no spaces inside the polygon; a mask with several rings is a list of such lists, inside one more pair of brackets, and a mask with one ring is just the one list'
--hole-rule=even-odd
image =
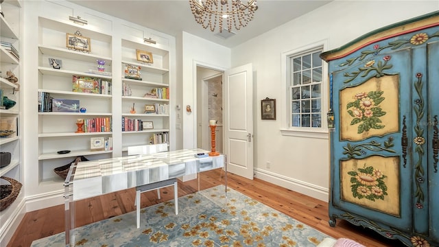
{"label": "painted flower bouquet on the blue cabinet's upper cream panel", "polygon": [[[382,97],[383,91],[370,91],[369,93],[357,93],[353,96],[355,101],[348,102],[346,108],[348,114],[354,119],[351,121],[351,126],[359,124],[358,134],[361,134],[370,129],[384,128],[379,117],[385,115],[383,109],[379,106],[385,99]],[[361,123],[361,124],[360,124]]]}

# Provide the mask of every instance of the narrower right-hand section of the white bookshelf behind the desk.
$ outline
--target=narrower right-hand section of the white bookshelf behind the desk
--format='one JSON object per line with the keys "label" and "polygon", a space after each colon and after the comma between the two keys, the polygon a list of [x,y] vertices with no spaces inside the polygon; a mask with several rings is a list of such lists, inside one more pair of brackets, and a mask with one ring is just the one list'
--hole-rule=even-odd
{"label": "narrower right-hand section of the white bookshelf behind the desk", "polygon": [[[153,63],[137,60],[137,51],[151,53]],[[121,54],[123,151],[169,143],[169,51],[123,39]]]}

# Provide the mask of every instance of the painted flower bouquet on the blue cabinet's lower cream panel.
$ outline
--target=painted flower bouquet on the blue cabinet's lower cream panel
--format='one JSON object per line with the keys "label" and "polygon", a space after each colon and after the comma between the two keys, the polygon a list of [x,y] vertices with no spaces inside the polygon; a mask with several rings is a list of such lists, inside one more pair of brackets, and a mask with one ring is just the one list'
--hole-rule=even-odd
{"label": "painted flower bouquet on the blue cabinet's lower cream panel", "polygon": [[384,200],[387,196],[387,185],[384,178],[387,178],[379,169],[374,167],[359,168],[357,172],[348,172],[351,175],[351,191],[354,198],[368,200]]}

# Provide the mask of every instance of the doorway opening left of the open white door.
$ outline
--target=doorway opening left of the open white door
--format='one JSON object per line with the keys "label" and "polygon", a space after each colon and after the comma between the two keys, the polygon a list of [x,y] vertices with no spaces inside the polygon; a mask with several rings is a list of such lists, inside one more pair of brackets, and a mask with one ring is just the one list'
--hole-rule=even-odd
{"label": "doorway opening left of the open white door", "polygon": [[211,150],[209,120],[215,120],[215,150],[223,152],[224,71],[197,66],[197,148]]}

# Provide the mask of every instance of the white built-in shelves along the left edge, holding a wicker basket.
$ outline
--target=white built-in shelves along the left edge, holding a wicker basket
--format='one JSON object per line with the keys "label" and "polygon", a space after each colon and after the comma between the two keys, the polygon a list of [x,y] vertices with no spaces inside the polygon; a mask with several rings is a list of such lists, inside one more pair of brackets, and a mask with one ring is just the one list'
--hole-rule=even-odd
{"label": "white built-in shelves along the left edge, holding a wicker basket", "polygon": [[[21,219],[25,203],[25,180],[23,163],[23,58],[21,43],[21,3],[16,0],[2,1],[0,15],[0,97],[16,102],[11,107],[0,100],[0,151],[10,153],[10,162],[0,167],[0,176],[17,180],[23,185],[19,195],[7,208],[0,211],[0,246],[7,244],[5,239],[11,236],[9,231],[14,220]],[[4,103],[4,104],[3,104]],[[7,154],[8,155],[8,154]],[[1,185],[9,185],[6,180],[0,180]],[[2,196],[3,191],[2,191]]]}

